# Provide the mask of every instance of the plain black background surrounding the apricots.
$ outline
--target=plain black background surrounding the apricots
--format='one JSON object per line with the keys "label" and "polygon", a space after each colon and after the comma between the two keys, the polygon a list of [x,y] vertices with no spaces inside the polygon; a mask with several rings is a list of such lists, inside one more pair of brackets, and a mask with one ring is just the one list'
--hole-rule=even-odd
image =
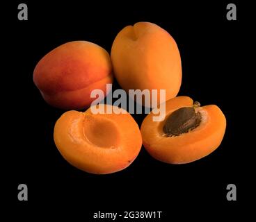
{"label": "plain black background surrounding the apricots", "polygon": [[[246,8],[237,5],[237,21],[227,21],[227,3],[131,1],[88,3],[23,1],[29,20],[17,19],[12,3],[2,21],[7,49],[3,121],[9,142],[5,164],[8,202],[14,215],[34,212],[48,218],[75,216],[93,221],[93,212],[129,210],[163,211],[163,219],[205,220],[212,216],[237,216],[246,202],[246,165],[240,109],[246,87]],[[227,119],[221,146],[211,155],[191,164],[171,165],[154,160],[144,148],[124,171],[97,176],[67,164],[53,140],[54,123],[64,112],[43,101],[33,84],[33,69],[47,52],[72,40],[95,42],[111,50],[115,35],[129,24],[153,22],[175,39],[182,57],[182,87],[179,95],[191,96],[202,105],[218,105]],[[115,87],[118,85],[115,83]],[[144,114],[133,117],[141,126]],[[29,201],[17,200],[17,185],[29,187]],[[237,185],[237,201],[226,200],[226,186]],[[155,220],[157,221],[157,219]],[[158,220],[160,221],[160,220]]]}

